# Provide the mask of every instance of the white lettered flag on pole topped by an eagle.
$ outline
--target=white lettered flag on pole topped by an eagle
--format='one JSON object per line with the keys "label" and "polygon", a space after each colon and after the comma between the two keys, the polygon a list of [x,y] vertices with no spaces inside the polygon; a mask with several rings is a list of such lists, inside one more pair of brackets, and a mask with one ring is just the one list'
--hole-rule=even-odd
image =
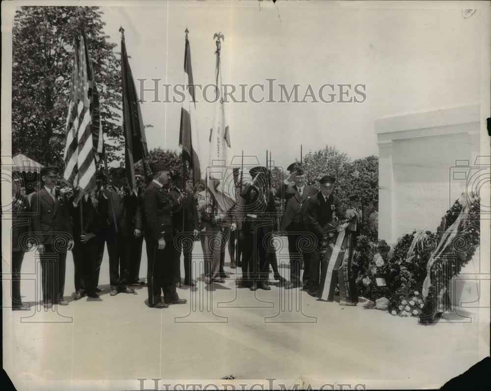
{"label": "white lettered flag on pole topped by an eagle", "polygon": [[210,161],[208,166],[207,187],[215,196],[222,211],[229,210],[236,200],[234,191],[233,168],[230,167],[230,133],[225,121],[225,107],[223,104],[223,87],[221,83],[220,69],[220,37],[215,34],[217,40],[217,67],[216,67],[216,92],[217,106],[215,120],[210,130]]}

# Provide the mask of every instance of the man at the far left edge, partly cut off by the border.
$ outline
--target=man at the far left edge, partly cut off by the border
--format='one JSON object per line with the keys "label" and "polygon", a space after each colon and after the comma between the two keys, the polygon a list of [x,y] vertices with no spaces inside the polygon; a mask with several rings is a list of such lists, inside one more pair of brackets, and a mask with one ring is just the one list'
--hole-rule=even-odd
{"label": "man at the far left edge, partly cut off by the border", "polygon": [[12,310],[28,310],[29,305],[21,300],[21,266],[29,232],[29,203],[20,192],[21,178],[12,175]]}

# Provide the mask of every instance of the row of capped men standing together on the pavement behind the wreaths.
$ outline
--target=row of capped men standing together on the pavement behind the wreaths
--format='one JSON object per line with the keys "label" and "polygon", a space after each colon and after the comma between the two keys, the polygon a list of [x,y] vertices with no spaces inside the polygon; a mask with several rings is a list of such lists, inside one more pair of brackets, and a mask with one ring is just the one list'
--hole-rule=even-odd
{"label": "row of capped men standing together on the pavement behind the wreaths", "polygon": [[[225,248],[230,242],[229,249],[235,249],[236,237],[242,249],[240,283],[243,286],[250,290],[271,289],[268,279],[272,268],[274,279],[286,289],[301,287],[318,297],[328,262],[323,259],[326,246],[334,245],[336,233],[341,230],[350,231],[351,239],[359,233],[359,196],[349,197],[351,206],[344,213],[339,198],[333,194],[336,178],[323,176],[318,190],[306,184],[305,171],[299,163],[288,167],[289,176],[276,190],[269,185],[267,168],[251,168],[252,180],[235,181],[238,199],[226,209],[220,207],[209,190],[198,193],[196,198],[191,191],[186,191],[183,173],[172,174],[166,162],[153,162],[149,167],[152,178],[146,188],[139,172],[136,172],[136,186],[129,189],[125,186],[124,168],[112,168],[108,186],[104,188],[102,178],[98,177],[97,190],[77,197],[56,186],[58,170],[55,167],[43,168],[40,173],[43,186],[31,196],[30,203],[25,196],[19,196],[19,186],[14,181],[14,309],[27,307],[20,300],[19,273],[26,246],[19,246],[19,237],[29,229],[37,242],[43,304],[47,308],[53,304],[68,304],[63,294],[66,252],[70,250],[74,259],[76,300],[83,296],[98,298],[105,245],[109,253],[110,295],[134,293],[131,285],[144,284],[138,279],[143,237],[148,266],[148,307],[165,308],[169,304],[186,303],[176,291],[176,287],[181,286],[180,259],[184,253],[184,284],[194,286],[191,252],[198,235],[206,283],[223,283],[229,277],[223,268]],[[171,179],[172,189],[169,188]],[[284,200],[279,231],[286,232],[288,240],[289,281],[278,271],[274,246],[278,213],[275,199],[278,198]],[[30,219],[30,226],[16,223],[22,218]],[[353,240],[349,243],[347,246],[353,247]],[[233,252],[230,251],[231,266],[235,267]],[[348,249],[348,254],[349,263],[352,249]],[[240,255],[237,261],[241,261]]]}

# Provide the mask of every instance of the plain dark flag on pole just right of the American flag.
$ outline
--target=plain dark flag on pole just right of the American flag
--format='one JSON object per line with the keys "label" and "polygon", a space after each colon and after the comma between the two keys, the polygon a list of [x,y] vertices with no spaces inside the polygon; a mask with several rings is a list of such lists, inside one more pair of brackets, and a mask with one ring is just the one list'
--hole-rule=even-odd
{"label": "plain dark flag on pole just right of the American flag", "polygon": [[121,79],[123,83],[123,131],[125,139],[126,178],[131,188],[135,185],[135,163],[147,156],[147,141],[141,118],[135,82],[131,73],[124,28],[121,31]]}

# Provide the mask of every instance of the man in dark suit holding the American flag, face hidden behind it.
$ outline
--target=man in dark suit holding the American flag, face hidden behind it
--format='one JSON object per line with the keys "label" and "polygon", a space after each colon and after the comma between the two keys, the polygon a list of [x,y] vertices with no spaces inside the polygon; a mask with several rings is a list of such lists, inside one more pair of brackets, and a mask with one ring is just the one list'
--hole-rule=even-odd
{"label": "man in dark suit holding the American flag, face hidden behind it", "polygon": [[103,221],[96,205],[95,199],[86,194],[75,205],[70,203],[72,213],[74,247],[72,250],[75,278],[75,300],[85,295],[98,298],[96,293],[96,263],[101,237]]}

